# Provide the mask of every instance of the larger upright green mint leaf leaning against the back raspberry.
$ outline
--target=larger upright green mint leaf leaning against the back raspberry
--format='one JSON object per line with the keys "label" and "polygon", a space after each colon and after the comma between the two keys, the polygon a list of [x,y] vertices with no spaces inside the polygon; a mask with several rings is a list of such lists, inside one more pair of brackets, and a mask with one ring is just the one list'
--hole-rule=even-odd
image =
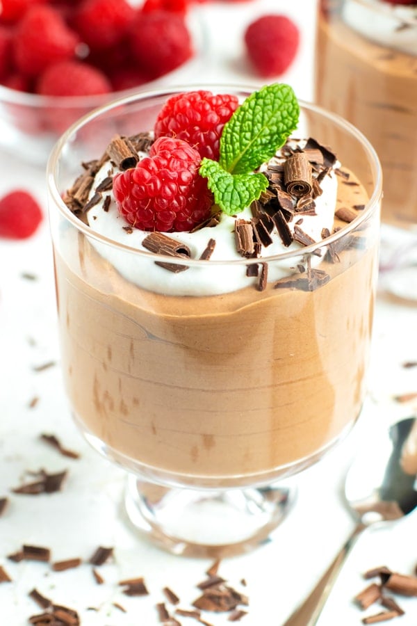
{"label": "larger upright green mint leaf leaning against the back raspberry", "polygon": [[284,83],[252,93],[224,125],[220,165],[231,174],[247,174],[268,161],[297,128],[300,107]]}

